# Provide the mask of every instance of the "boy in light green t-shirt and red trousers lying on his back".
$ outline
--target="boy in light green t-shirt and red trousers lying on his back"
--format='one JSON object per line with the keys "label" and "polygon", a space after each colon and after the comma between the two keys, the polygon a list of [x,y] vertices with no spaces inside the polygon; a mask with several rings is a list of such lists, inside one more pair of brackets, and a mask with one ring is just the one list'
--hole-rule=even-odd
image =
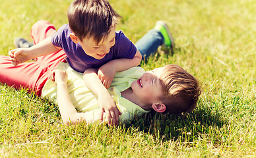
{"label": "boy in light green t-shirt and red trousers lying on his back", "polygon": [[[0,82],[16,89],[28,88],[59,105],[64,124],[99,120],[98,96],[85,86],[82,73],[73,70],[67,63],[57,63],[61,60],[59,55],[62,53],[39,57],[38,61],[18,66],[14,66],[9,57],[0,55]],[[86,71],[90,74],[95,69],[88,68]],[[51,80],[52,74],[57,86]],[[28,79],[23,80],[22,76]],[[201,90],[197,79],[183,68],[166,65],[149,72],[141,67],[117,72],[108,92],[121,111],[119,122],[124,122],[151,110],[158,113],[192,111]],[[112,120],[106,121],[113,125],[110,123]]]}

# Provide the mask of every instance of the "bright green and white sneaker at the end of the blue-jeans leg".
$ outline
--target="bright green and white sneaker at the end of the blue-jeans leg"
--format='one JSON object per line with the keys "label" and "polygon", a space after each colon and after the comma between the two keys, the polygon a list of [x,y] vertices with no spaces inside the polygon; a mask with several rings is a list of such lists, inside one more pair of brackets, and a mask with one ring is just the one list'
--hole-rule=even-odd
{"label": "bright green and white sneaker at the end of the blue-jeans leg", "polygon": [[167,47],[170,47],[170,49],[174,50],[174,38],[172,37],[172,34],[164,21],[158,21],[156,22],[156,26],[154,26],[154,29],[161,32],[162,36],[164,37],[164,45]]}

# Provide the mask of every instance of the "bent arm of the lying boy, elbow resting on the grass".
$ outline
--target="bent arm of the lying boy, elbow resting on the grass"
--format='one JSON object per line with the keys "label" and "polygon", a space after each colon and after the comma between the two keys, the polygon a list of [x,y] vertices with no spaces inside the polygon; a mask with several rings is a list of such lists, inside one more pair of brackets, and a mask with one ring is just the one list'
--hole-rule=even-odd
{"label": "bent arm of the lying boy, elbow resting on the grass", "polygon": [[98,115],[92,113],[77,113],[67,90],[67,73],[63,70],[53,70],[53,81],[57,84],[57,101],[61,119],[64,124],[71,125],[80,122],[92,123],[99,120]]}

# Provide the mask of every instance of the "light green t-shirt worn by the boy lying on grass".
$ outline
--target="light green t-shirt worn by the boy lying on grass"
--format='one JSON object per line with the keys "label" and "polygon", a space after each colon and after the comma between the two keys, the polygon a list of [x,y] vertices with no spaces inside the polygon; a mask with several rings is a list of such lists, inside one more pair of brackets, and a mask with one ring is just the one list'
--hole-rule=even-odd
{"label": "light green t-shirt worn by the boy lying on grass", "polygon": [[[98,115],[98,97],[84,85],[82,74],[73,70],[69,64],[62,62],[59,63],[57,69],[65,70],[68,74],[67,89],[71,102],[75,108],[79,112],[87,113],[86,115],[88,115],[88,117]],[[110,92],[119,111],[122,113],[122,115],[119,116],[121,122],[133,119],[135,115],[141,116],[149,112],[124,97],[121,97],[121,92],[130,88],[131,83],[141,78],[144,72],[144,69],[138,66],[122,72],[117,72],[110,88],[108,88],[108,92]],[[57,86],[55,82],[52,80],[46,82],[41,97],[46,98],[57,105]]]}

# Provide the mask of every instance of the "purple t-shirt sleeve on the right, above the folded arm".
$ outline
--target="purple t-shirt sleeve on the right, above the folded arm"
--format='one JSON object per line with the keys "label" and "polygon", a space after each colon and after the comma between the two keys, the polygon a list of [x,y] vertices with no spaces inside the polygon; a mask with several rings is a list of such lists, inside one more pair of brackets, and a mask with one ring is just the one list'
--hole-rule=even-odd
{"label": "purple t-shirt sleeve on the right, above the folded arm", "polygon": [[116,41],[115,41],[115,47],[116,47],[116,55],[117,58],[127,58],[127,59],[133,59],[137,52],[137,48],[133,44],[133,42],[123,34],[123,32],[119,31],[116,32]]}

